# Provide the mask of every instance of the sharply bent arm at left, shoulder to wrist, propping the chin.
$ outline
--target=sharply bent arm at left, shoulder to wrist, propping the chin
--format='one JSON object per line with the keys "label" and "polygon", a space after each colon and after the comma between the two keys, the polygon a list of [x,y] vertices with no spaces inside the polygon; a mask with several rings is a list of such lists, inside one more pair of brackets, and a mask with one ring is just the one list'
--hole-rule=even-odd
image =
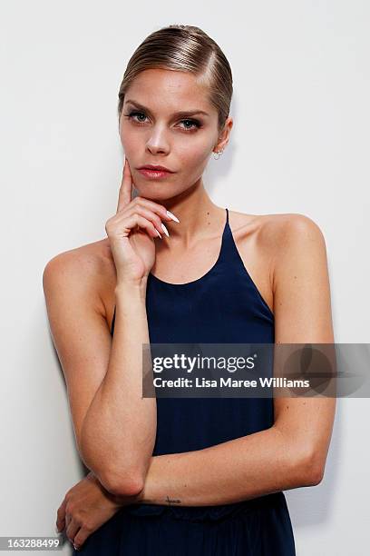
{"label": "sharply bent arm at left, shoulder to wrist, propping the chin", "polygon": [[83,462],[108,491],[131,495],[142,488],[156,432],[155,398],[141,398],[145,293],[116,288],[112,340],[102,264],[86,247],[61,253],[44,269],[44,295]]}

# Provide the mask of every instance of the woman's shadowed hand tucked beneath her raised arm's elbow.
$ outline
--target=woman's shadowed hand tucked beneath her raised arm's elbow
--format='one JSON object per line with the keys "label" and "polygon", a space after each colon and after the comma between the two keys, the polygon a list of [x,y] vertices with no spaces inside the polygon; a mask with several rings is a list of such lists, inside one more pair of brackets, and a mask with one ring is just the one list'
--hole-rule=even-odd
{"label": "woman's shadowed hand tucked beneath her raised arm's elbow", "polygon": [[65,529],[74,548],[79,549],[93,531],[108,521],[122,506],[132,503],[134,498],[137,497],[114,496],[90,472],[65,494],[57,511],[56,527],[59,532]]}

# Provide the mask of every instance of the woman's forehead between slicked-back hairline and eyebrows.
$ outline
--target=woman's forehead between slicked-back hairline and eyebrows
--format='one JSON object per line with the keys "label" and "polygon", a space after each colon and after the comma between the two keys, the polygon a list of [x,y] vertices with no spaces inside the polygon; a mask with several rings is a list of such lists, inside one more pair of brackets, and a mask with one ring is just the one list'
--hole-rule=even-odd
{"label": "woman's forehead between slicked-back hairline and eyebrows", "polygon": [[190,72],[148,69],[135,77],[126,91],[125,100],[132,99],[151,109],[168,112],[195,108],[212,113],[209,89]]}

